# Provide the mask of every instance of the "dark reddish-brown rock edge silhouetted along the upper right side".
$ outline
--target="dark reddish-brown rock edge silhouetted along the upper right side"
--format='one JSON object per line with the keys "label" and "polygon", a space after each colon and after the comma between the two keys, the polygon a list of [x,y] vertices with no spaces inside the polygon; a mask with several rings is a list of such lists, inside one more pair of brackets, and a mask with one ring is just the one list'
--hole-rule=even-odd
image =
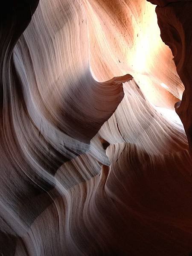
{"label": "dark reddish-brown rock edge silhouetted along the upper right side", "polygon": [[182,101],[175,108],[192,150],[192,2],[167,2],[169,6],[162,8],[162,1],[151,1],[159,5],[156,12],[161,38],[172,50],[177,73],[185,86]]}

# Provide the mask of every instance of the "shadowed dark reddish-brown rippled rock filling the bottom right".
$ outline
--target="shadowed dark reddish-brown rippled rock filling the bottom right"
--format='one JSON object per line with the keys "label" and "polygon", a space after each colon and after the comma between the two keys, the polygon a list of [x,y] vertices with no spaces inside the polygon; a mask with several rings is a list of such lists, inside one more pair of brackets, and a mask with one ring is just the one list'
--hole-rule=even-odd
{"label": "shadowed dark reddish-brown rippled rock filling the bottom right", "polygon": [[154,156],[122,143],[110,145],[108,154],[110,168],[59,189],[61,195],[35,219],[15,255],[26,255],[25,250],[29,255],[188,255],[188,152]]}

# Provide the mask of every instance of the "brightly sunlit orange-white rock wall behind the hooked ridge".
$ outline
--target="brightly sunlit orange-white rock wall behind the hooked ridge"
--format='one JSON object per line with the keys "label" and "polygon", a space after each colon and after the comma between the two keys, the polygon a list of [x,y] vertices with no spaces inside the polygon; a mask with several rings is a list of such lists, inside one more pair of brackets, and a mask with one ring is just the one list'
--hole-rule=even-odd
{"label": "brightly sunlit orange-white rock wall behind the hooked ridge", "polygon": [[92,0],[86,1],[86,8],[96,78],[130,73],[151,103],[174,108],[184,87],[172,53],[159,36],[155,6],[145,0]]}

